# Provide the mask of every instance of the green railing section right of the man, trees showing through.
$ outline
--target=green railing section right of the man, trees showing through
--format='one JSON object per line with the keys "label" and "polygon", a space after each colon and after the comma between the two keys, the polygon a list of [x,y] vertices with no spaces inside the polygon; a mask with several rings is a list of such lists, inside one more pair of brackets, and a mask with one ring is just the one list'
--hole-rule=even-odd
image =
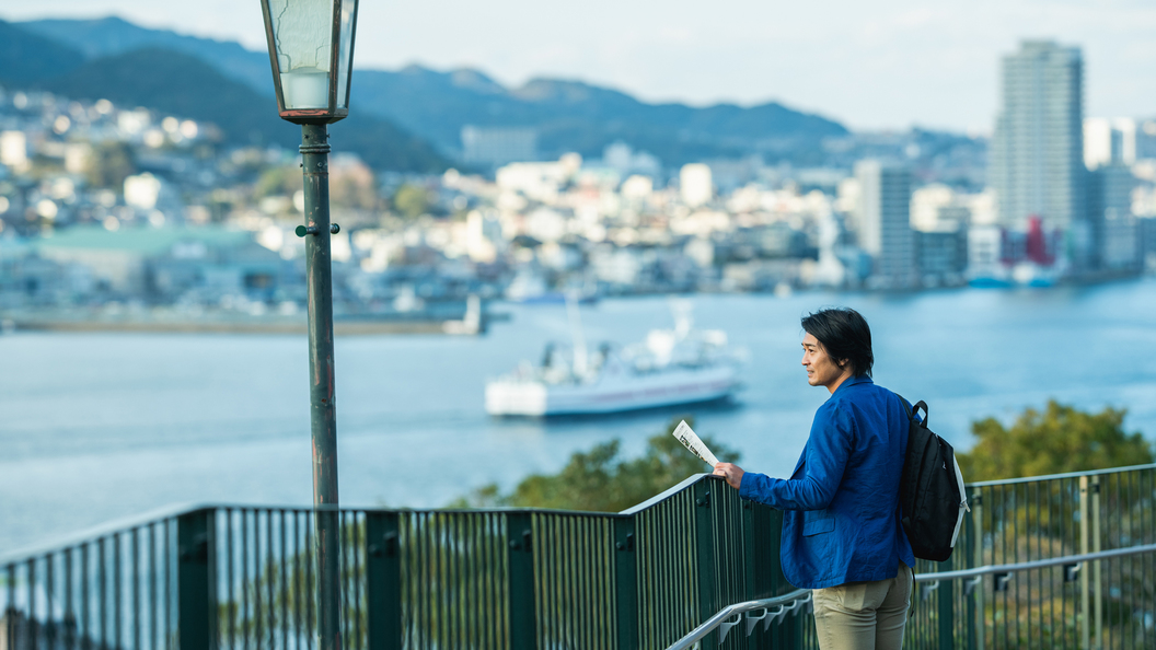
{"label": "green railing section right of the man, trees showing through", "polygon": [[918,562],[905,648],[1156,648],[1156,465],[968,493],[951,560]]}

